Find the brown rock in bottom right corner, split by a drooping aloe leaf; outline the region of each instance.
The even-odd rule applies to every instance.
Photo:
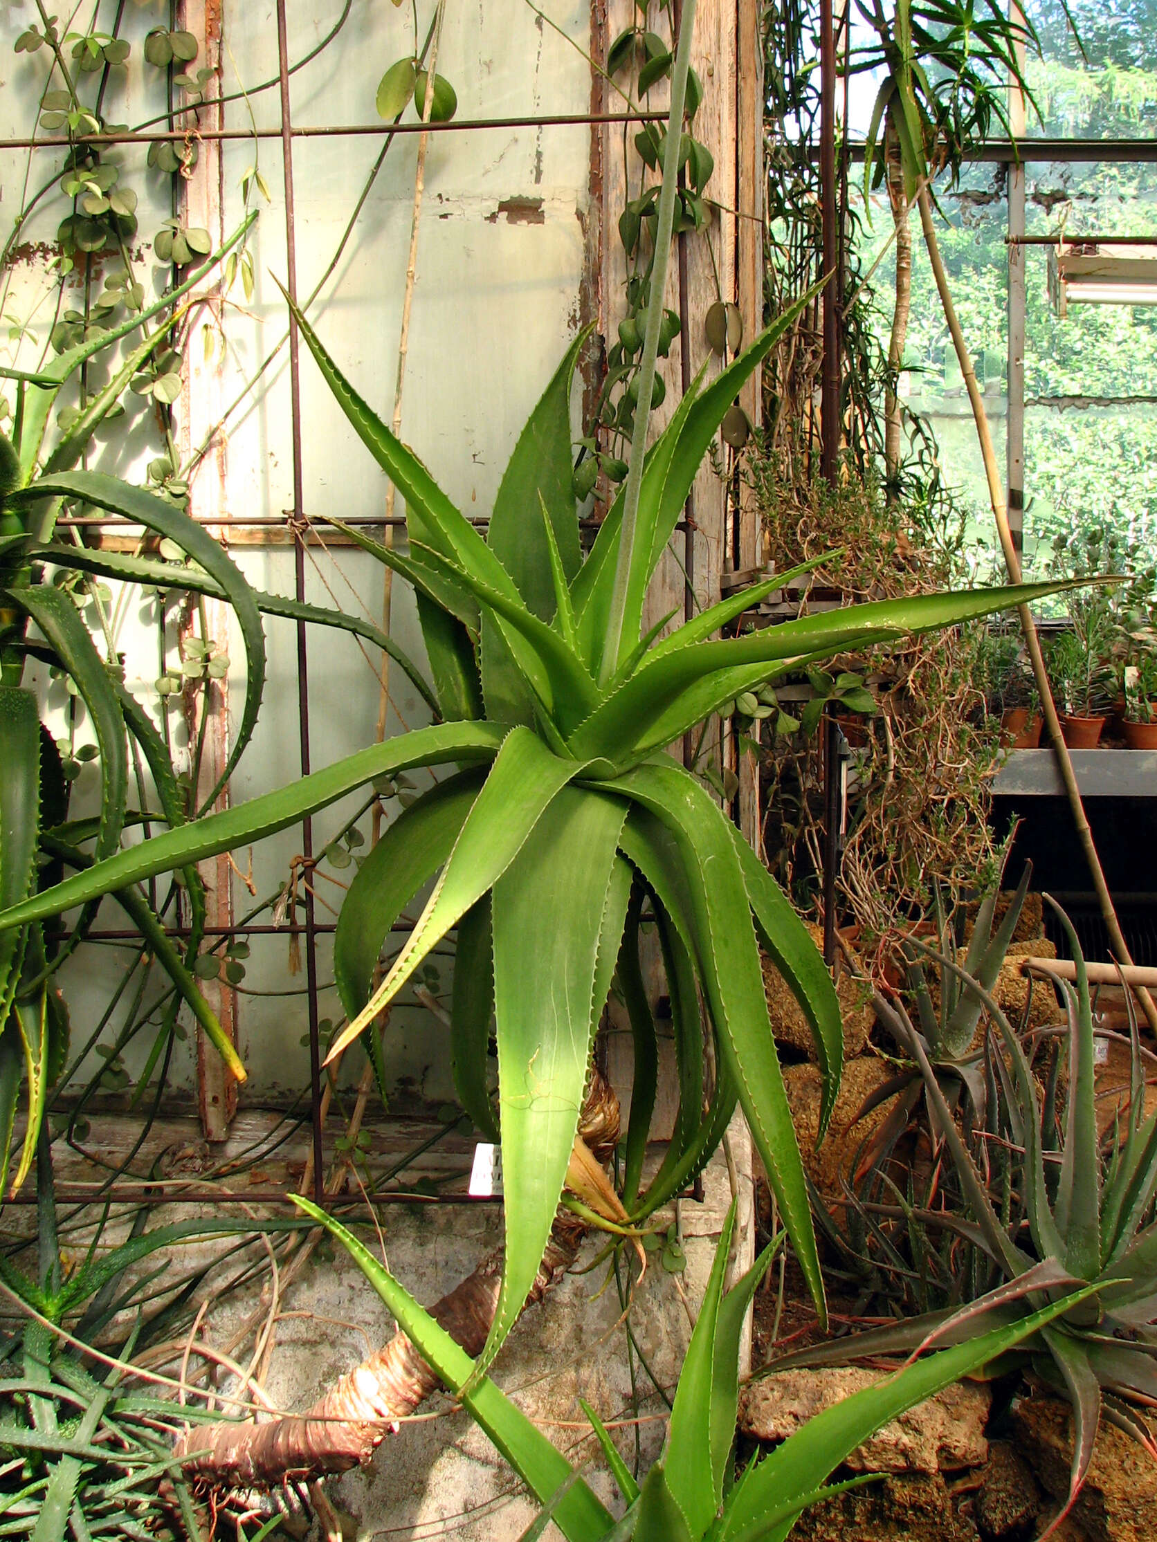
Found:
[[[1063,1502],[1072,1459],[1069,1405],[1055,1397],[1023,1397],[1012,1417],[1018,1453],[1044,1493]],[[1071,1519],[1091,1542],[1151,1542],[1157,1531],[1157,1462],[1105,1420]]]

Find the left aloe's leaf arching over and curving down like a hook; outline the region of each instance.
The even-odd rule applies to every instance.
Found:
[[[190,520],[184,510],[174,509],[164,498],[157,498],[156,493],[145,492],[143,487],[131,487],[117,476],[106,476],[103,472],[62,472],[40,476],[20,497],[39,498],[45,493],[56,498],[83,498],[99,509],[108,509],[134,524],[156,530],[157,535],[174,541],[184,552],[188,552],[224,589],[245,643],[245,705],[221,779],[205,799],[205,808],[211,808],[253,737],[261,695],[265,689],[265,634],[253,591],[233,558],[204,526]]]

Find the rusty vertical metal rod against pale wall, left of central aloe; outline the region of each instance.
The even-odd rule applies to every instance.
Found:
[[[285,174],[285,290],[298,302],[298,250],[293,217],[293,137],[288,83],[288,40],[285,28],[285,0],[278,0],[278,74],[281,85],[281,153]],[[298,601],[305,600],[305,541],[302,540],[304,492],[301,475],[301,361],[298,355],[298,324],[290,316],[290,430],[293,435],[293,578]],[[301,774],[310,774],[310,699],[309,657],[305,623],[298,621],[298,740],[301,745]],[[301,851],[305,873],[313,871],[313,820],[307,814],[301,822]],[[321,1130],[321,1029],[318,1022],[318,959],[316,925],[313,916],[313,891],[305,884],[305,988],[309,992],[310,1024],[310,1112],[313,1115],[313,1201],[326,1203],[326,1173],[322,1169]]]

